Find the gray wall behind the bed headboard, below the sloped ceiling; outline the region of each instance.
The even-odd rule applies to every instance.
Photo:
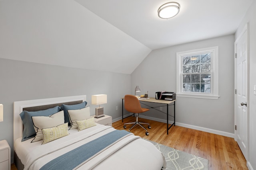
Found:
[[[91,96],[107,94],[108,103],[102,105],[104,113],[113,119],[120,119],[121,98],[129,93],[130,74],[0,59],[0,104],[4,105],[4,121],[0,122],[0,140],[6,139],[13,150],[15,101],[86,94],[91,115],[94,115],[97,106],[91,105]]]

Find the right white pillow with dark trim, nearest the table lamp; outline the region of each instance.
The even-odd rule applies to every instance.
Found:
[[[68,110],[68,116],[71,124],[70,129],[76,129],[76,121],[90,118],[90,106],[77,110]]]

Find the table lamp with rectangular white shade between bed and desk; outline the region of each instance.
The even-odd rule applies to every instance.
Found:
[[[98,108],[95,108],[95,117],[99,118],[104,116],[104,108],[100,107],[101,104],[107,103],[107,95],[106,94],[97,94],[92,95],[92,104],[99,105]]]

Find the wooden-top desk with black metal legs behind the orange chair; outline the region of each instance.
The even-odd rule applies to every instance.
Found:
[[[166,124],[167,124],[167,135],[168,135],[168,130],[174,125],[175,126],[175,101],[176,100],[156,100],[155,98],[151,98],[150,99],[139,99],[140,103],[148,106],[147,104],[150,104],[150,103],[158,103],[158,104],[164,104],[164,106],[166,106],[166,113],[161,111],[161,110],[158,110],[158,109],[155,109],[156,107],[163,107],[163,106],[155,106],[155,107],[151,107],[151,106],[148,106],[148,109],[152,108],[152,109],[155,109],[157,111],[160,111],[162,113],[165,113],[167,116],[166,116]],[[146,104],[147,103],[147,104]],[[169,115],[169,107],[168,106],[174,106],[174,116],[172,115]],[[169,116],[172,116],[174,118],[174,123],[172,123],[172,125],[169,127],[169,123],[168,123],[168,119],[169,119]],[[124,121],[126,117],[124,117],[124,98],[122,98],[122,122]]]

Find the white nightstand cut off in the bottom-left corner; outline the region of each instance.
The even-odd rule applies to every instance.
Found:
[[[0,167],[1,170],[11,169],[11,149],[6,140],[0,141]]]

